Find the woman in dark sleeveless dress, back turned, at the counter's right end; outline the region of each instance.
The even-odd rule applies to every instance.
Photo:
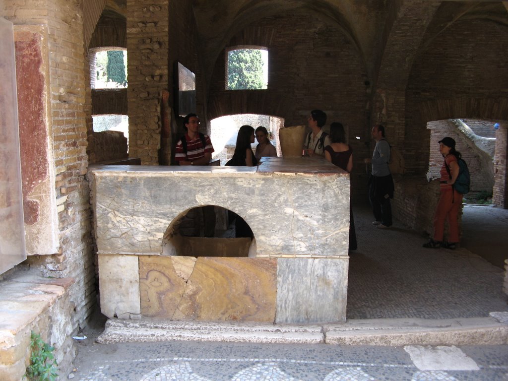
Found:
[[[325,147],[325,158],[330,163],[342,168],[347,173],[353,169],[353,149],[346,143],[346,134],[342,123],[333,122],[330,124],[330,145]],[[350,237],[349,249],[357,249],[355,220],[350,197]]]

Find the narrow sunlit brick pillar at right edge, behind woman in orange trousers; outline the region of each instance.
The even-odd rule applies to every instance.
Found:
[[[499,123],[496,131],[496,149],[494,152],[494,188],[492,202],[495,206],[508,208],[508,122]]]

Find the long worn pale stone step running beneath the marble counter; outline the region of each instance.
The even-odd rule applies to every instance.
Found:
[[[369,319],[343,324],[281,325],[230,322],[106,322],[99,343],[195,340],[342,345],[498,345],[508,343],[508,312],[464,319]]]

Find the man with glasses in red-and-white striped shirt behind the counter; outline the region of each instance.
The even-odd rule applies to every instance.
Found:
[[[187,133],[176,143],[175,160],[181,166],[207,166],[212,157],[213,146],[208,135],[199,132],[200,120],[196,114],[183,118]],[[215,207],[203,206],[204,236],[215,235]]]

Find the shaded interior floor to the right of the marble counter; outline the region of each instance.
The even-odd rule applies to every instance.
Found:
[[[504,239],[501,255],[498,233],[508,232],[508,210],[498,209],[492,218],[493,209],[466,207],[465,247],[448,250],[423,248],[427,237],[396,220],[392,229],[377,229],[368,207],[354,208],[358,250],[350,255],[347,319],[450,319],[508,311],[503,270],[481,257],[490,253],[499,262],[508,253]],[[471,232],[474,226],[488,228]]]

